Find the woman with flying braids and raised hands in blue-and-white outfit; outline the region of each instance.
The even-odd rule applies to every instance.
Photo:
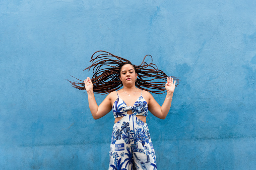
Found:
[[[98,53],[100,54],[91,60],[92,66],[88,67],[89,69],[96,68],[96,73],[92,80],[89,77],[84,80],[84,88],[88,94],[89,107],[94,119],[99,119],[111,109],[113,110],[115,124],[111,137],[109,169],[156,169],[155,151],[146,117],[150,111],[156,117],[165,119],[171,107],[176,80],[173,81],[173,78],[155,69],[154,64],[147,64],[144,60],[143,65],[135,66],[128,60],[104,51],[98,51],[93,56]],[[117,60],[111,60],[108,57],[115,57]],[[98,61],[95,62],[96,59]],[[116,66],[109,64],[116,64]],[[102,66],[109,68],[101,69]],[[148,67],[153,67],[153,69]],[[117,69],[118,77],[114,76]],[[153,93],[163,91],[163,85],[159,82],[148,82],[149,80],[143,80],[143,77],[153,77],[151,80],[163,79],[163,77],[167,79],[164,86],[167,94],[162,106],[148,91]],[[110,80],[106,81],[107,78]],[[93,82],[97,85],[96,89],[94,89]],[[81,83],[71,83],[74,87],[83,89]],[[143,85],[143,83],[149,85]],[[117,90],[119,86],[122,86],[122,89]],[[155,90],[146,90],[144,87]],[[98,106],[94,92],[109,92],[109,94]]]

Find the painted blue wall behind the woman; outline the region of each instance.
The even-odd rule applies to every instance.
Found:
[[[256,1],[0,1],[1,169],[107,169],[113,115],[94,120],[97,50],[180,77],[147,122],[159,169],[256,168]],[[98,103],[104,95],[96,95]],[[154,95],[159,104],[165,94]]]

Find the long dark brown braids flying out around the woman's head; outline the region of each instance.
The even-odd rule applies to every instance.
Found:
[[[146,57],[151,57],[150,64],[147,64],[144,61]],[[152,63],[153,58],[151,55],[146,55],[141,65],[136,66],[133,65],[129,60],[115,56],[106,51],[97,51],[92,55],[90,62],[92,65],[84,69],[84,71],[87,69],[90,70],[91,68],[93,69],[93,76],[91,81],[93,83],[93,92],[95,93],[107,94],[119,89],[122,86],[121,80],[119,78],[120,71],[121,67],[125,64],[131,64],[135,69],[135,73],[138,74],[135,84],[136,87],[156,94],[162,94],[166,92],[165,82],[167,75]],[[179,83],[179,79],[177,79],[177,77],[172,78],[176,80],[176,87]],[[162,79],[164,81],[156,82],[156,79]],[[81,82],[69,82],[73,87],[79,90],[85,90],[84,81],[79,81]]]

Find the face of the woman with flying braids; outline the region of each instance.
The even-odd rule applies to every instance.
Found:
[[[123,85],[135,84],[137,73],[135,73],[134,67],[131,64],[125,64],[121,68],[119,78]]]

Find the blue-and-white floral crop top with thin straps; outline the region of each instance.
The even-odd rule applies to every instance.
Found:
[[[117,93],[117,96],[118,96],[118,93]],[[135,115],[147,116],[148,103],[142,97],[142,91],[141,91],[141,96],[136,100],[133,106],[127,106],[126,103],[118,96],[118,98],[115,100],[112,106],[112,110],[113,110],[114,118],[125,116],[127,114],[127,111],[129,110],[132,110],[133,114]]]

